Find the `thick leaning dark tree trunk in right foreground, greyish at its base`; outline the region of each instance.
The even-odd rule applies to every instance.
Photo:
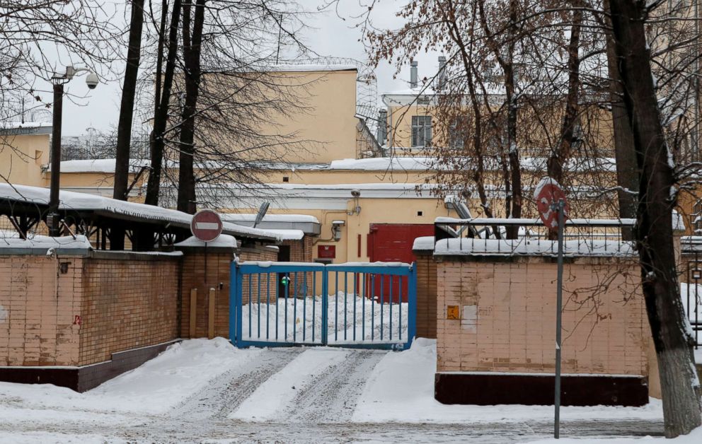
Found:
[[[665,435],[702,424],[692,338],[680,298],[672,235],[672,160],[665,142],[646,42],[646,1],[610,0],[623,98],[640,169],[635,238],[643,295],[655,344]]]

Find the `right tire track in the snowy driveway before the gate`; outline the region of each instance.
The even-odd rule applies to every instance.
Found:
[[[353,350],[298,392],[287,412],[290,421],[349,422],[373,368],[387,351]]]

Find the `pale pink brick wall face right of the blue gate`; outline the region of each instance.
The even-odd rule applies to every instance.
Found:
[[[437,278],[439,372],[553,372],[555,262],[444,257]],[[648,375],[638,279],[636,264],[623,259],[565,264],[563,373]],[[459,319],[447,319],[449,306]]]

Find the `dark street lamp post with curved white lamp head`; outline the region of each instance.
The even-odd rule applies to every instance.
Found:
[[[86,72],[86,84],[88,88],[95,89],[98,86],[98,75],[87,68],[76,68],[66,66],[66,71],[62,74],[56,73],[52,76],[51,82],[54,84],[54,117],[52,123],[51,140],[51,183],[49,192],[49,214],[47,214],[46,224],[49,227],[50,236],[61,235],[59,227],[59,178],[61,177],[61,120],[63,110],[64,85],[69,83],[76,74]]]

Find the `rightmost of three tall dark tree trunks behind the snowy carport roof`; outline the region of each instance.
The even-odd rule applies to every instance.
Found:
[[[180,124],[180,155],[178,163],[178,210],[195,214],[195,113],[200,91],[200,45],[205,23],[205,0],[197,0],[190,35],[190,4],[183,5],[183,57],[185,62],[185,105]]]

